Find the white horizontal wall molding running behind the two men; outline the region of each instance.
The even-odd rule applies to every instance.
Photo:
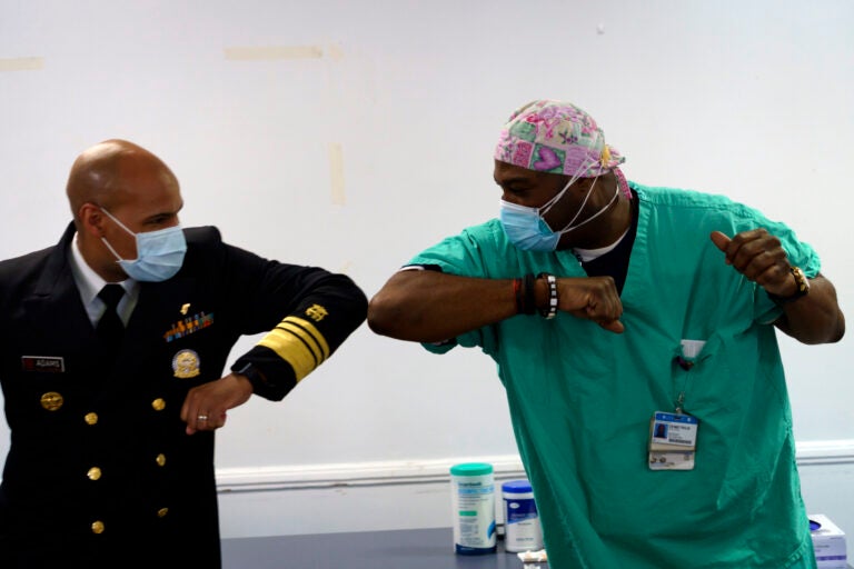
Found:
[[[496,480],[526,476],[518,455],[500,455],[434,460],[222,468],[217,470],[217,487],[219,492],[260,492],[445,483],[448,480],[448,469],[458,462],[488,462],[495,469]],[[798,467],[852,463],[854,439],[797,443]]]

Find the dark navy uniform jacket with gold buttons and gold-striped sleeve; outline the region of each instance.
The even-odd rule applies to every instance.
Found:
[[[252,363],[256,395],[281,399],[365,320],[346,276],[185,233],[183,267],[141,283],[115,363],[71,273],[73,226],[0,262],[0,567],[219,567],[214,433],[185,433],[187,391],[222,376],[241,335],[271,330],[232,369]]]

